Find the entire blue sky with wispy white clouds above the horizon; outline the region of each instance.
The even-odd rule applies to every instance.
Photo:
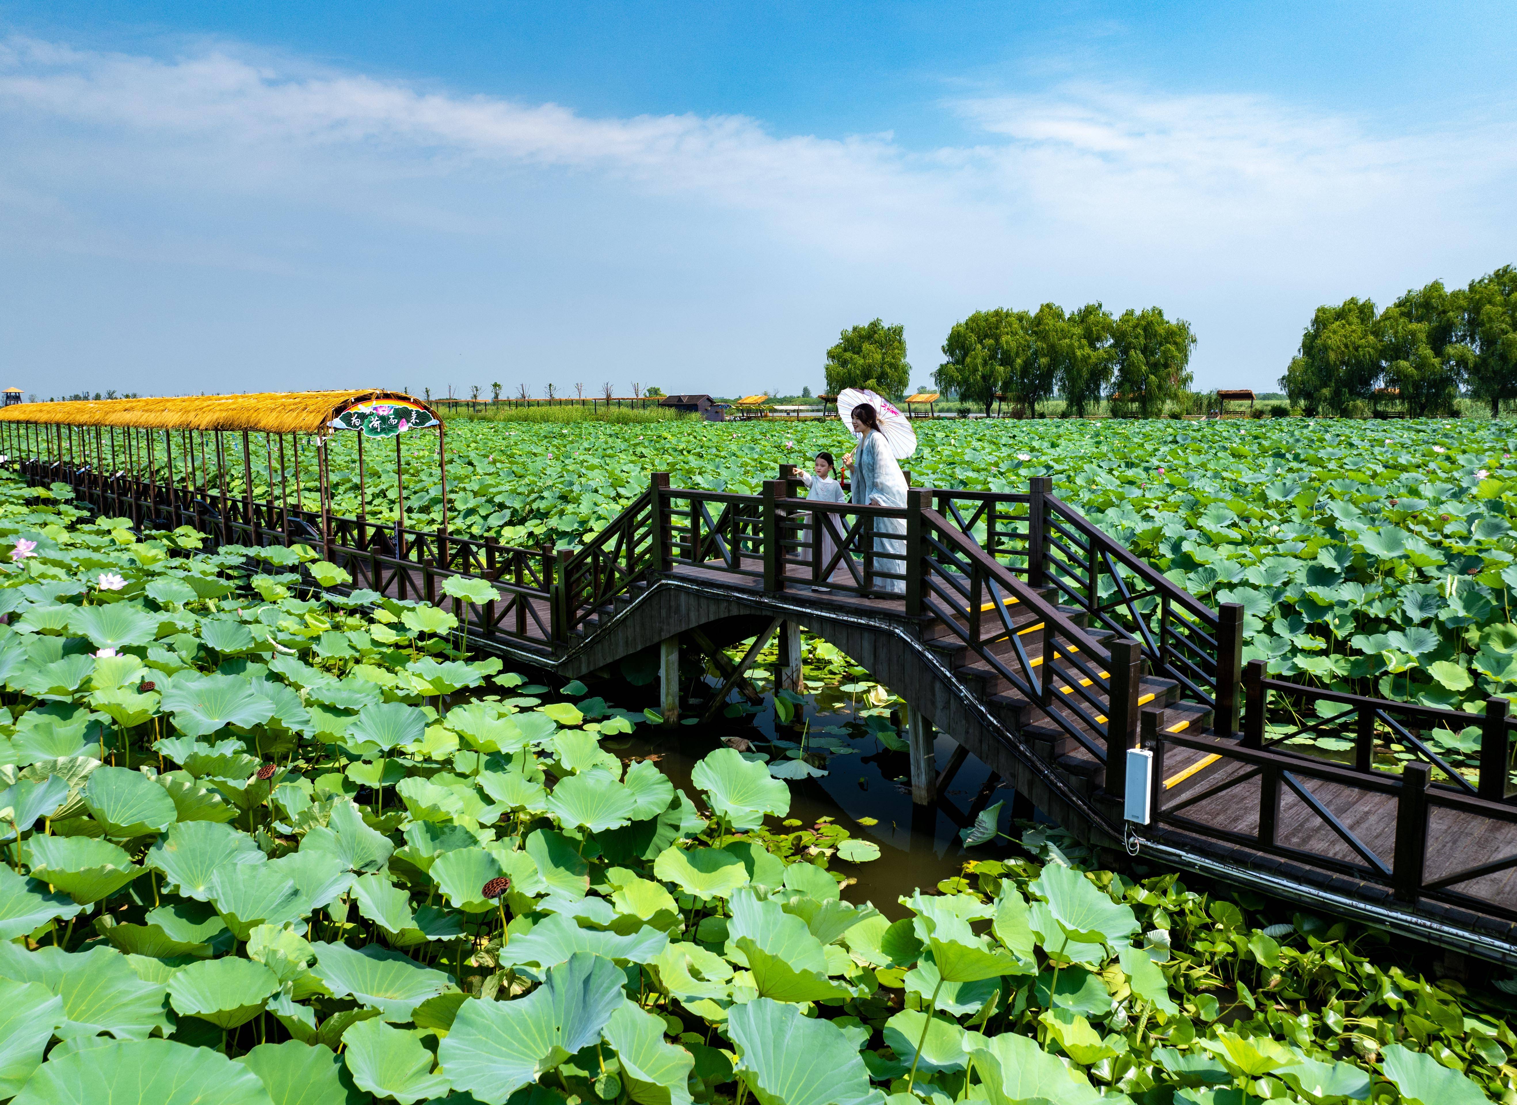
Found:
[[[0,0],[0,357],[42,395],[819,389],[906,325],[1317,304],[1514,249],[1511,5]]]

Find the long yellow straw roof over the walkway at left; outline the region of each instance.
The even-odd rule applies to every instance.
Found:
[[[419,399],[404,392],[253,392],[247,395],[187,395],[167,399],[21,402],[0,407],[0,422],[326,434],[329,433],[326,423],[332,417],[350,404],[366,399],[407,399],[425,407]]]

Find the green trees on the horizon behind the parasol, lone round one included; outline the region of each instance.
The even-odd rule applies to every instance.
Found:
[[[994,308],[957,322],[944,342],[938,387],[986,413],[1004,396],[1036,410],[1062,398],[1065,411],[1086,414],[1109,402],[1115,414],[1150,417],[1191,386],[1195,334],[1157,307],[1112,316],[1101,304],[1065,311]],[[827,351],[827,390],[869,387],[901,396],[910,384],[904,326],[883,320],[845,329]]]

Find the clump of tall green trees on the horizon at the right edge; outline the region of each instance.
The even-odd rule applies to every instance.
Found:
[[[1434,281],[1384,311],[1370,299],[1318,307],[1280,387],[1308,414],[1359,413],[1384,398],[1434,417],[1462,393],[1496,417],[1517,399],[1517,269],[1452,291]]]

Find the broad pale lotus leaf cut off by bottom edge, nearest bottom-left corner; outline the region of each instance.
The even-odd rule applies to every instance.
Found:
[[[49,1059],[17,1105],[273,1105],[264,1084],[209,1047],[173,1040],[108,1043]]]

